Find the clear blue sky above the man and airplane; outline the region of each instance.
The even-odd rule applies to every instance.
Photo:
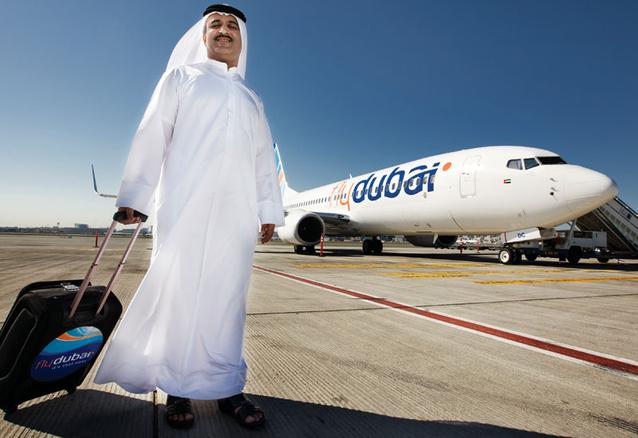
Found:
[[[297,190],[473,146],[538,146],[638,207],[638,2],[243,0],[248,82]],[[130,141],[202,1],[8,0],[0,226],[109,223]]]

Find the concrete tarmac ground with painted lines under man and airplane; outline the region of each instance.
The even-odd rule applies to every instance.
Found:
[[[126,239],[106,251],[105,284]],[[126,306],[150,259],[140,239],[114,290]],[[82,278],[94,239],[0,235],[0,321],[26,284]],[[638,264],[329,243],[259,245],[248,303],[247,431],[214,401],[170,429],[165,394],[93,383],[25,402],[1,437],[638,436]],[[100,359],[98,359],[99,361]]]

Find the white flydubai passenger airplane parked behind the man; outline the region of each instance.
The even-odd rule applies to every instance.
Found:
[[[288,186],[275,157],[285,209],[279,238],[312,253],[321,236],[361,236],[380,254],[382,235],[449,247],[459,235],[551,228],[618,193],[606,175],[523,146],[465,149],[387,167],[303,192]]]

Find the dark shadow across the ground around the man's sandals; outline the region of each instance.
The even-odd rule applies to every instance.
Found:
[[[164,420],[165,406],[119,394],[78,390],[14,412],[5,421],[61,437],[541,437],[490,424],[421,421],[352,409],[252,395],[268,421],[258,431],[240,427],[221,414],[214,401],[194,401],[195,426],[174,430]]]

